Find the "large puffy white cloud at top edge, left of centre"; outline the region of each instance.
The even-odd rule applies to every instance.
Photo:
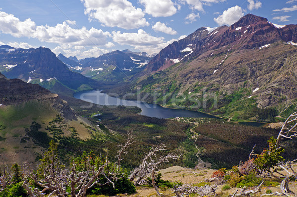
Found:
[[[81,0],[85,14],[108,27],[134,29],[148,26],[145,13],[127,0]]]

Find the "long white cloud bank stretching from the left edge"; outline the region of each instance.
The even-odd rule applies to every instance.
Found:
[[[37,26],[30,18],[20,21],[12,14],[0,12],[0,31],[14,37],[37,38],[42,42],[63,45],[103,46],[108,44],[106,39],[111,37],[109,32],[103,32],[93,27],[90,30],[85,27],[74,29],[68,25],[69,23],[75,24],[75,21],[63,22],[54,27]]]

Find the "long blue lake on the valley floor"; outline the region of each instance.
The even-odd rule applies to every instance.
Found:
[[[171,109],[162,107],[157,104],[148,104],[136,100],[122,100],[116,97],[111,97],[100,90],[93,90],[87,92],[79,92],[74,94],[76,99],[81,99],[87,102],[105,105],[112,108],[116,106],[139,107],[141,109],[140,115],[155,117],[155,118],[175,118],[175,117],[191,117],[191,118],[218,118],[206,113],[198,111],[190,111],[186,109]]]

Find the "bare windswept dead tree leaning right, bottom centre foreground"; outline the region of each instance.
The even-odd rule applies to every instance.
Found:
[[[178,159],[180,155],[169,154],[167,156],[161,156],[157,158],[156,153],[159,151],[165,151],[168,148],[164,144],[154,145],[148,154],[144,157],[139,167],[135,168],[129,176],[130,181],[134,181],[135,185],[145,183],[148,176],[151,175],[151,182],[156,190],[157,194],[161,196],[159,189],[155,183],[155,174],[157,167],[164,162],[169,162],[170,159]],[[135,180],[136,179],[136,180]]]

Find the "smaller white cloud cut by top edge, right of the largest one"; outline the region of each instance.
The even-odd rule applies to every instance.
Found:
[[[176,13],[171,0],[139,0],[145,6],[145,12],[153,17],[172,16]]]

